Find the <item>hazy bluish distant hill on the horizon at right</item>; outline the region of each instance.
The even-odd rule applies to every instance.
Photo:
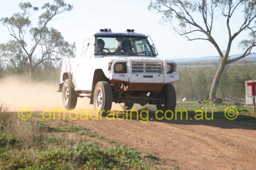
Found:
[[[230,55],[229,58],[237,58],[241,56],[242,54],[235,54]],[[187,62],[218,62],[219,56],[205,56],[200,58],[180,58],[180,59],[173,59],[177,63],[187,63]],[[244,59],[241,60],[256,60],[256,54],[251,54],[246,56]]]

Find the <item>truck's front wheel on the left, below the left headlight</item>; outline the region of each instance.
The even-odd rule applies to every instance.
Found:
[[[98,82],[93,94],[94,109],[98,108],[98,115],[102,111],[102,116],[106,116],[107,111],[112,107],[112,89],[108,82]],[[104,110],[104,111],[103,111]]]

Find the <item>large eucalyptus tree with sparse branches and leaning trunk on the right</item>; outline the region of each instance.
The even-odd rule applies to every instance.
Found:
[[[217,87],[227,64],[236,62],[252,54],[256,46],[256,1],[255,0],[151,0],[148,8],[162,13],[163,23],[171,24],[174,32],[187,40],[205,40],[212,44],[218,52],[220,62],[211,84],[209,99],[216,98]],[[235,15],[241,15],[242,21]],[[218,25],[216,19],[223,20],[224,25]],[[231,28],[233,23],[239,27]],[[227,30],[227,44],[221,47],[217,43],[217,29]],[[242,40],[238,47],[243,54],[229,59],[232,43],[241,33],[248,33],[248,38]],[[225,38],[225,37],[223,37]]]

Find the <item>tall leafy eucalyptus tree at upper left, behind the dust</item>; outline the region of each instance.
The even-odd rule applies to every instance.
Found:
[[[14,13],[11,17],[1,18],[1,23],[7,27],[10,35],[25,53],[29,62],[29,75],[33,79],[34,69],[45,60],[58,62],[67,56],[74,55],[75,44],[68,43],[59,31],[48,28],[50,21],[57,19],[62,13],[71,11],[73,6],[63,0],[54,0],[41,7],[37,25],[34,26],[31,18],[39,11],[30,2],[19,3],[22,12]]]

